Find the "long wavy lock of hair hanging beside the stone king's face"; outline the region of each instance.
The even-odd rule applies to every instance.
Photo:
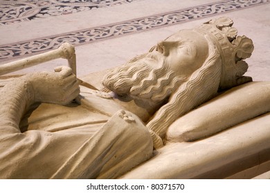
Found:
[[[215,43],[204,34],[208,41],[208,58],[181,84],[170,96],[168,103],[163,105],[147,123],[152,135],[154,148],[163,146],[162,139],[168,127],[180,116],[217,94],[222,72],[222,61]]]

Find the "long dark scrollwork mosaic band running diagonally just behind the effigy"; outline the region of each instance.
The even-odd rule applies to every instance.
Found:
[[[156,28],[183,23],[194,19],[201,19],[203,17],[210,17],[215,14],[251,8],[253,6],[269,2],[270,0],[219,1],[217,3],[209,3],[194,8],[166,12],[163,14],[132,19],[130,21],[123,21],[106,26],[33,39],[30,41],[21,41],[19,43],[9,45],[0,45],[0,61],[46,52],[48,50],[58,48],[64,42],[69,42],[75,46],[85,43],[93,43],[104,39],[120,37],[125,34],[133,34],[136,32],[143,32],[146,30],[153,30]]]

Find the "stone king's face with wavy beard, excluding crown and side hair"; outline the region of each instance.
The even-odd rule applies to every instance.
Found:
[[[192,30],[181,30],[107,74],[103,84],[120,95],[162,101],[188,81],[208,58],[208,41]]]

